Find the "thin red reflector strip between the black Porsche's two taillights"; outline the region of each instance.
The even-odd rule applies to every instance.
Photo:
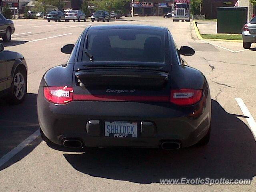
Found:
[[[169,102],[169,96],[109,96],[73,95],[73,100],[83,101],[130,101],[130,102]]]

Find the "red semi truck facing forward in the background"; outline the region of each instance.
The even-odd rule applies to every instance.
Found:
[[[173,21],[190,21],[190,0],[174,0]]]

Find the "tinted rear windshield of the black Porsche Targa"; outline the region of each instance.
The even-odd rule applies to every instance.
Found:
[[[164,62],[163,31],[89,30],[85,49],[95,61]],[[89,58],[83,54],[83,61]]]

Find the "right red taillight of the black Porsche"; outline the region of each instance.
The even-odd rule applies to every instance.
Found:
[[[171,90],[170,102],[180,105],[193,105],[200,101],[203,91],[198,89]]]

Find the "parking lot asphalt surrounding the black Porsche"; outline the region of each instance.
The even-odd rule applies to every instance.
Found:
[[[54,150],[38,136],[36,97],[43,74],[64,64],[60,48],[75,43],[89,25],[144,24],[167,27],[178,47],[191,46],[188,65],[207,78],[212,98],[212,135],[207,146],[176,151],[98,149]],[[192,22],[136,17],[111,22],[15,20],[6,50],[28,64],[28,96],[23,104],[0,102],[0,191],[255,191],[256,44],[198,40]],[[2,41],[0,41],[2,42]],[[33,135],[34,134],[34,135]],[[31,136],[32,135],[32,136]],[[29,139],[27,139],[29,138]],[[32,142],[30,142],[32,141]],[[1,164],[2,162],[2,164]],[[182,177],[248,179],[250,185],[162,185]]]

